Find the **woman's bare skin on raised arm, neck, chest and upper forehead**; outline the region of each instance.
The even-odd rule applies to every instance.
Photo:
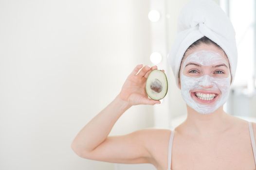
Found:
[[[214,45],[201,44],[185,57],[199,50],[223,52]],[[78,156],[112,163],[150,163],[157,170],[167,169],[171,130],[143,129],[109,136],[118,118],[133,105],[160,103],[148,99],[145,91],[148,74],[157,67],[142,67],[134,68],[116,98],[75,136],[71,148]],[[256,136],[256,123],[253,129]],[[172,170],[256,169],[247,121],[225,113],[223,106],[202,115],[187,105],[187,119],[174,131]]]

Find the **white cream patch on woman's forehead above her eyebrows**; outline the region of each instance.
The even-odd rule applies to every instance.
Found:
[[[224,63],[228,66],[228,62],[218,53],[214,51],[197,51],[190,54],[184,61],[183,68],[187,63],[198,63],[203,66],[210,66]]]

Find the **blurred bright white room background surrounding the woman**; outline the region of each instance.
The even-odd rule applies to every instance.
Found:
[[[188,0],[0,0],[0,170],[155,170],[78,157],[77,133],[138,64],[168,77],[160,105],[131,107],[111,135],[186,118],[167,53]],[[225,110],[256,121],[256,4],[215,0],[230,17],[238,69]]]

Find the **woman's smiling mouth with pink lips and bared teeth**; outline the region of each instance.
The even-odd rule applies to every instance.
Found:
[[[193,100],[201,104],[213,104],[219,98],[218,91],[197,90],[197,91],[191,91],[190,94]]]

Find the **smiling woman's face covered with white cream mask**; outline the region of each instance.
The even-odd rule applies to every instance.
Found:
[[[180,68],[184,101],[197,112],[212,113],[223,105],[230,89],[231,74],[224,51],[201,44],[186,52]]]

